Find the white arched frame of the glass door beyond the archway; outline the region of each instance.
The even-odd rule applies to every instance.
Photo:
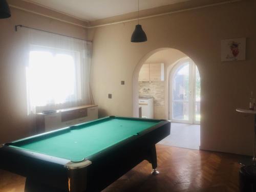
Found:
[[[191,95],[189,99],[192,100],[192,102],[188,101],[188,117],[189,118],[188,120],[173,119],[173,78],[178,68],[187,61],[189,62],[189,90],[190,90],[189,95]],[[169,72],[168,84],[169,84],[168,86],[169,91],[167,94],[168,95],[168,119],[178,123],[200,124],[200,121],[196,121],[196,114],[195,114],[195,109],[196,109],[196,94],[195,94],[196,93],[196,64],[195,62],[189,57],[180,59],[172,68],[172,70]]]

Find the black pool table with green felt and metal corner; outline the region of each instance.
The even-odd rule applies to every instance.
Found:
[[[6,143],[0,168],[25,176],[25,191],[100,191],[148,160],[170,122],[109,116]]]

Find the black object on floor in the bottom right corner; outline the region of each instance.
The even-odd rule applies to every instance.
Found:
[[[241,167],[239,172],[239,180],[241,192],[255,192],[256,166],[249,165]]]

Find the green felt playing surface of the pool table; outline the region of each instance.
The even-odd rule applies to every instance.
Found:
[[[59,135],[49,134],[39,140],[17,141],[13,146],[50,156],[79,161],[104,150],[126,138],[148,129],[159,121],[107,118],[80,129],[73,129]]]

